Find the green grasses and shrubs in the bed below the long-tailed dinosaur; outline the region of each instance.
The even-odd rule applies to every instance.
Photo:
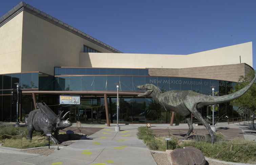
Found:
[[[138,128],[137,136],[152,150],[167,149],[164,138],[155,138],[152,130],[146,127]],[[195,136],[194,141],[187,141],[178,145],[176,138],[169,141],[169,149],[193,146],[202,151],[206,157],[228,162],[256,163],[256,143],[237,139],[232,141],[223,140],[223,135],[216,134],[216,142],[211,144],[210,136]],[[159,139],[159,140],[158,140]]]

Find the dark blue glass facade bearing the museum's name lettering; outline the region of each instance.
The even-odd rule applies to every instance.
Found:
[[[0,121],[16,120],[16,104],[12,104],[12,88],[19,83],[23,90],[57,90],[57,91],[116,91],[116,83],[120,83],[120,91],[138,92],[137,85],[154,84],[162,92],[169,90],[193,90],[198,93],[211,95],[211,87],[215,88],[215,95],[225,95],[235,85],[234,82],[148,76],[148,69],[121,69],[121,68],[68,68],[55,67],[55,75],[35,73],[19,73],[0,75]],[[105,103],[103,96],[81,96],[81,105],[58,105],[59,95],[36,95],[39,102],[52,105],[58,113],[60,110],[71,111],[69,118],[72,121],[88,123],[106,122]],[[53,106],[54,105],[54,106]],[[116,122],[116,98],[108,97],[109,117]],[[239,116],[229,103],[216,105],[216,119],[221,116],[229,118]],[[30,94],[22,96],[19,116],[21,121],[26,114],[34,109]],[[208,121],[211,121],[211,107],[204,107],[199,112]],[[166,111],[151,98],[122,97],[120,98],[121,123],[168,123],[171,112]],[[196,122],[196,118],[193,118]],[[219,121],[226,121],[222,117]],[[185,122],[185,119],[175,115],[174,122]]]

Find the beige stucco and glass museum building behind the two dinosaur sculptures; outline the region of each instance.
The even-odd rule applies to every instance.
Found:
[[[16,121],[12,89],[19,83],[19,120],[45,102],[70,111],[72,122],[116,122],[119,84],[121,123],[169,123],[171,112],[151,98],[139,98],[137,85],[162,92],[193,90],[226,95],[240,76],[253,70],[252,42],[188,55],[123,53],[102,41],[21,2],[0,18],[0,121]],[[79,96],[79,105],[60,103],[61,95]],[[215,117],[238,117],[229,103],[215,106]],[[200,113],[209,121],[210,107]],[[226,117],[227,116],[227,117]],[[196,119],[195,119],[196,120]],[[174,122],[185,122],[175,115]]]

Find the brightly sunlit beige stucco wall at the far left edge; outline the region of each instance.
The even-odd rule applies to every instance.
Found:
[[[0,27],[0,74],[21,72],[23,12]]]

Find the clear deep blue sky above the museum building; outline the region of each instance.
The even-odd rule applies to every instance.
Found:
[[[0,15],[19,2],[1,0]],[[124,53],[190,54],[251,41],[255,52],[255,0],[24,2]]]

